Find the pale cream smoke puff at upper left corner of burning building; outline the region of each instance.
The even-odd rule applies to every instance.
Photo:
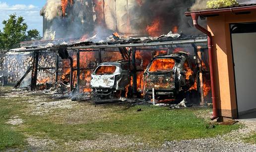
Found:
[[[47,0],[46,5],[41,10],[47,20],[53,20],[56,16],[62,15],[61,0]]]

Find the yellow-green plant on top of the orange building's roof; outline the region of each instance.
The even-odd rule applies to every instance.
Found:
[[[234,5],[238,5],[237,0],[209,0],[207,1],[207,8],[221,8],[221,7],[231,7]]]

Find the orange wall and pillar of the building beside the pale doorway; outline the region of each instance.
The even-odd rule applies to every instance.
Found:
[[[237,103],[230,23],[256,22],[256,11],[250,14],[226,13],[207,18],[207,28],[213,36],[213,67],[215,92],[220,116],[237,118]]]

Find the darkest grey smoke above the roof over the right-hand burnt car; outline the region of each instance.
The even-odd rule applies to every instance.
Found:
[[[170,32],[174,26],[178,26],[179,32],[186,35],[198,34],[192,26],[191,18],[184,14],[193,3],[194,0],[144,0],[142,14],[146,16],[147,25],[159,17],[162,34]]]

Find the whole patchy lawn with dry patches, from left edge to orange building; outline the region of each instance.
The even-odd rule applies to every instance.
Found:
[[[39,96],[39,95],[37,95]],[[54,109],[41,115],[28,100],[33,96],[0,97],[0,150],[26,150],[26,138],[49,138],[65,146],[70,141],[97,140],[105,134],[132,136],[134,142],[157,147],[165,141],[214,137],[236,130],[240,125],[207,128],[210,120],[197,116],[207,108],[170,109],[149,105],[97,105],[74,102],[72,108]],[[45,95],[39,99],[46,99]],[[50,101],[54,101],[49,99]],[[137,111],[137,109],[142,111]],[[23,120],[20,125],[6,122],[13,116]]]

